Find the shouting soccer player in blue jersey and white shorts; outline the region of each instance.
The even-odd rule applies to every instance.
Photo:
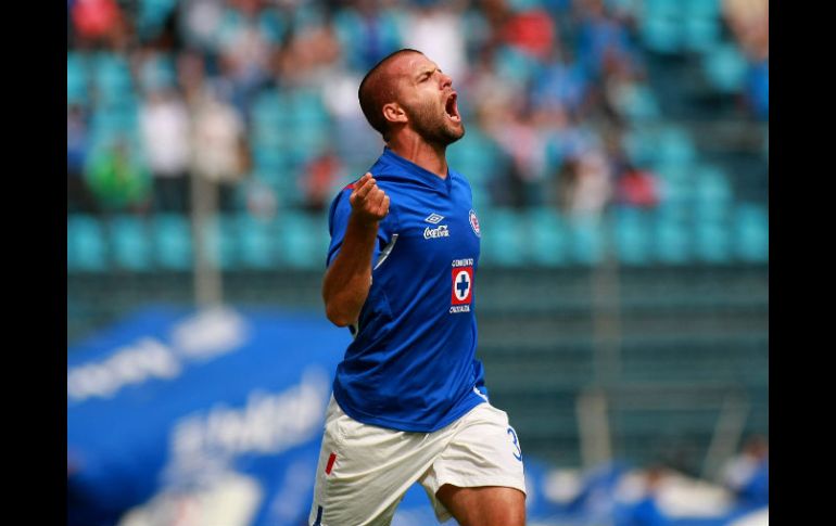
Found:
[[[360,82],[385,147],[330,208],[322,297],[354,339],[327,410],[312,525],[388,525],[416,482],[440,522],[525,523],[519,439],[474,357],[481,232],[470,185],[445,157],[465,134],[456,99],[409,49]]]

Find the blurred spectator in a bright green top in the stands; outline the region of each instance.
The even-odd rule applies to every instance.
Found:
[[[151,179],[136,149],[116,136],[88,156],[85,177],[105,213],[144,213],[150,205]]]

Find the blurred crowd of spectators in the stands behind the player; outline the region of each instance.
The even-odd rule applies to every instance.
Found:
[[[468,132],[495,156],[480,174],[490,204],[570,215],[612,202],[654,206],[656,178],[622,140],[625,105],[646,81],[626,3],[67,0],[68,61],[102,67],[97,57],[114,56],[130,77],[113,98],[67,99],[68,208],[183,213],[197,175],[217,183],[221,210],[322,210],[380,153],[356,87],[400,48],[423,51],[463,93]],[[735,34],[760,50],[761,35],[734,14],[739,3],[727,2]],[[259,97],[294,90],[317,93],[328,126],[321,147],[267,178],[293,181],[282,187],[288,200],[259,176],[253,129]],[[122,127],[97,129],[123,114]]]

